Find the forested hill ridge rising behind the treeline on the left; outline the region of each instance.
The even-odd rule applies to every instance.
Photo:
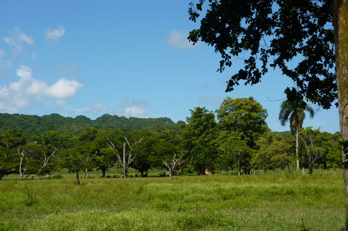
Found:
[[[166,117],[161,118],[134,118],[118,117],[117,115],[104,114],[95,120],[85,116],[76,118],[63,117],[60,114],[49,114],[42,117],[26,114],[0,113],[0,132],[12,128],[21,128],[27,135],[42,135],[47,130],[56,130],[70,135],[79,134],[84,126],[91,126],[98,130],[122,128],[125,130],[149,130],[161,132],[163,130],[179,130],[183,121],[174,123]]]

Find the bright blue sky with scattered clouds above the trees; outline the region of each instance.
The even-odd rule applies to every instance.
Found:
[[[177,122],[198,106],[215,111],[227,96],[253,96],[271,130],[289,130],[278,114],[291,80],[269,69],[258,85],[226,93],[241,57],[219,73],[219,54],[188,42],[199,26],[189,21],[190,2],[0,1],[0,112]],[[317,108],[303,126],[337,132],[338,109]]]

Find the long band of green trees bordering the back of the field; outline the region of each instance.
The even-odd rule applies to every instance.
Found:
[[[89,171],[97,168],[106,176],[115,164],[122,167],[124,177],[129,167],[140,176],[147,176],[150,169],[166,169],[170,176],[290,171],[295,166],[295,139],[289,132],[271,132],[266,118],[267,110],[252,97],[228,97],[215,112],[199,107],[191,110],[180,130],[97,129],[87,123],[77,135],[57,130],[29,135],[13,128],[0,135],[0,179],[12,173],[19,173],[21,179],[26,174],[39,178],[66,168],[77,174],[79,182],[79,172],[88,178]],[[301,167],[310,174],[313,168],[340,167],[339,138],[338,133],[301,129]]]

